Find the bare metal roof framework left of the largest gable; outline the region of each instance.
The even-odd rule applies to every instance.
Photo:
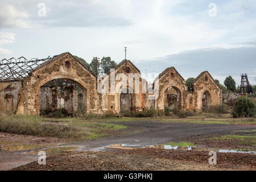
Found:
[[[18,80],[27,77],[33,69],[50,59],[52,59],[51,56],[44,59],[32,58],[30,60],[23,56],[18,59],[14,57],[9,60],[3,59],[0,61],[0,81]]]

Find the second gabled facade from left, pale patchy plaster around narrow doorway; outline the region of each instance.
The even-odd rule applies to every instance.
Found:
[[[129,72],[126,72],[127,68],[129,67]],[[139,80],[133,81],[133,85],[129,85],[129,73],[135,75],[138,74]],[[125,77],[117,77],[118,74],[123,74]],[[146,80],[142,81],[141,73],[138,71],[137,68],[134,67],[133,64],[130,63],[130,61],[127,61],[126,64],[123,63],[122,65],[118,66],[115,69],[114,74],[114,92],[111,92],[111,76],[110,73],[108,77],[101,80],[101,82],[108,83],[108,93],[102,93],[102,112],[109,112],[112,111],[115,114],[118,114],[121,111],[121,105],[131,105],[131,110],[142,110],[142,109],[149,109],[149,101],[148,101],[148,93],[147,93],[147,82]],[[138,84],[135,86],[135,82]],[[126,88],[123,88],[124,83],[126,83]],[[142,93],[142,89],[144,86],[144,90],[146,92]],[[138,92],[135,91],[135,87],[138,88]],[[123,90],[127,90],[126,92],[130,94],[127,94],[127,96],[123,95],[121,96],[121,93]],[[122,103],[121,103],[122,102]],[[130,107],[130,106],[127,106]]]

